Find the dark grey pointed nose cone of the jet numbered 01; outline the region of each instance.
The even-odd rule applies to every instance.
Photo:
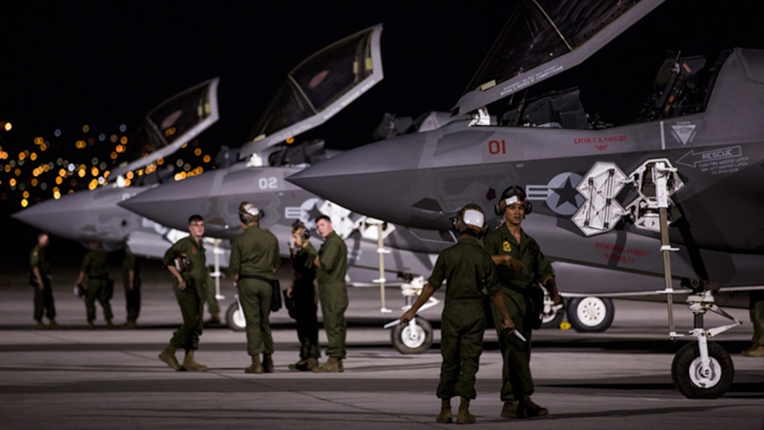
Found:
[[[404,135],[335,155],[286,178],[342,207],[407,226],[432,228],[442,215],[430,166],[420,165],[427,133]]]

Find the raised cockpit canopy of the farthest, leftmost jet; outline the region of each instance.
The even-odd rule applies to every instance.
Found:
[[[135,151],[132,160],[112,169],[109,178],[117,178],[167,157],[214,124],[218,118],[219,78],[193,86],[155,107],[129,145]]]

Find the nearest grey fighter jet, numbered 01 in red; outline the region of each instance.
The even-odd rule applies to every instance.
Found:
[[[577,88],[536,90],[660,3],[518,2],[451,122],[353,149],[287,181],[429,230],[447,230],[468,203],[493,211],[503,189],[522,184],[533,202],[523,229],[554,260],[562,292],[578,296],[568,302],[571,322],[601,322],[607,302],[594,299],[659,292],[669,335],[681,337],[672,295],[688,292],[688,335],[698,341],[679,350],[672,378],[685,396],[721,396],[733,363],[707,337],[740,321],[715,292],[760,289],[764,279],[764,50],[667,58],[630,123],[597,120]],[[704,328],[707,311],[730,324]]]

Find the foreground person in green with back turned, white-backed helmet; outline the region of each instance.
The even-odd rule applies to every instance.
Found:
[[[400,318],[400,324],[408,324],[413,320],[416,311],[445,281],[441,326],[443,361],[436,391],[441,399],[441,409],[435,421],[452,422],[451,398],[460,396],[456,421],[459,424],[472,424],[475,417],[469,412],[469,406],[470,400],[477,396],[475,375],[478,373],[483,352],[483,334],[487,325],[483,308],[484,289],[501,315],[498,327],[501,327],[503,333],[511,334],[515,326],[504,305],[494,262],[478,243],[478,238],[485,231],[483,210],[477,205],[468,204],[453,221],[454,230],[459,234],[458,243],[440,253],[422,293]]]

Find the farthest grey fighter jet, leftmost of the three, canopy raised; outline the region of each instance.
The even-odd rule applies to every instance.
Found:
[[[157,166],[157,161],[219,119],[218,84],[218,78],[200,83],[152,109],[135,138],[128,142],[125,158],[130,162],[112,168],[105,186],[45,200],[12,216],[66,239],[99,242],[109,250],[127,244],[138,255],[161,258],[167,249],[167,240],[162,236],[169,229],[117,203],[167,180],[167,172]]]

